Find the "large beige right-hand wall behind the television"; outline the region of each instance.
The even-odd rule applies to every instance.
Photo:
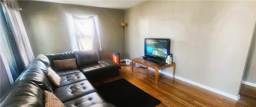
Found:
[[[255,1],[146,1],[125,10],[128,58],[144,38],[170,38],[176,76],[238,95],[254,24]],[[172,74],[168,68],[166,72]]]

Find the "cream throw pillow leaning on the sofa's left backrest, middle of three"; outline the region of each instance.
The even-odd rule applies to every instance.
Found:
[[[54,72],[54,70],[52,70],[51,68],[48,68],[48,74],[47,74],[48,78],[50,79],[50,81],[57,87],[60,86],[60,76],[58,76],[58,74],[56,74],[56,72]]]

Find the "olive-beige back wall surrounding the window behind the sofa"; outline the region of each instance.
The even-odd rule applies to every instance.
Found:
[[[38,1],[18,1],[34,56],[72,51],[66,14],[98,15],[102,59],[122,52],[124,10]]]

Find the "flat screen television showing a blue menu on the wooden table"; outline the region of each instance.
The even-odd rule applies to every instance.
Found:
[[[170,39],[145,38],[145,56],[152,61],[165,61],[170,54]]]

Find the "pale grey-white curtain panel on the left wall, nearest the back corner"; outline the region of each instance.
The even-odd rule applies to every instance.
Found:
[[[8,14],[10,18],[10,23],[13,28],[12,31],[15,33],[14,37],[18,45],[18,50],[20,51],[20,55],[24,61],[25,67],[27,67],[28,64],[34,60],[34,55],[32,53],[28,35],[21,19],[19,9],[17,6],[6,0],[3,2],[4,7],[6,8],[6,14]]]

